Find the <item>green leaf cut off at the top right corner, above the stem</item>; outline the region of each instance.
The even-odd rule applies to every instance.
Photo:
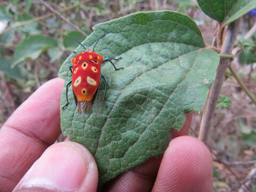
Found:
[[[256,0],[197,0],[197,3],[205,14],[223,25],[256,8]]]

